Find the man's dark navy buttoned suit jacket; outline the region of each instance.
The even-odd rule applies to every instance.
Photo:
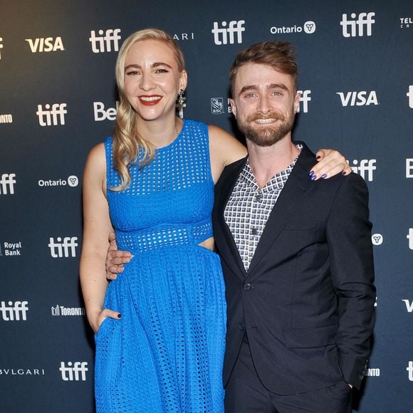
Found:
[[[360,387],[375,303],[364,180],[350,174],[312,182],[315,156],[304,145],[246,273],[224,221],[244,163],[224,169],[213,214],[228,305],[224,385],[246,331],[271,392],[308,392],[340,380]]]

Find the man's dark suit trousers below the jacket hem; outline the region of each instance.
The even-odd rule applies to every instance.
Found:
[[[351,413],[352,390],[346,382],[324,389],[281,396],[259,379],[248,343],[242,343],[225,390],[225,413]]]

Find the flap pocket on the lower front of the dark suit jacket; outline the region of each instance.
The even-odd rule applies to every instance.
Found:
[[[337,325],[323,327],[292,328],[283,330],[284,341],[288,348],[324,347],[335,344]]]

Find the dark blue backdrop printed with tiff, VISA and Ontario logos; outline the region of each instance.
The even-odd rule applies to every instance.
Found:
[[[370,189],[377,325],[354,409],[413,411],[411,0],[0,0],[0,12],[1,412],[94,411],[78,280],[83,166],[113,128],[122,40],[148,26],[184,51],[181,115],[236,135],[236,52],[296,46],[294,137],[343,152]]]

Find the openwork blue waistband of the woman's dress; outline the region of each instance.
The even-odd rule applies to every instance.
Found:
[[[147,251],[182,244],[199,244],[212,236],[212,223],[209,219],[199,224],[186,226],[164,226],[146,231],[116,231],[119,249],[125,251]]]

